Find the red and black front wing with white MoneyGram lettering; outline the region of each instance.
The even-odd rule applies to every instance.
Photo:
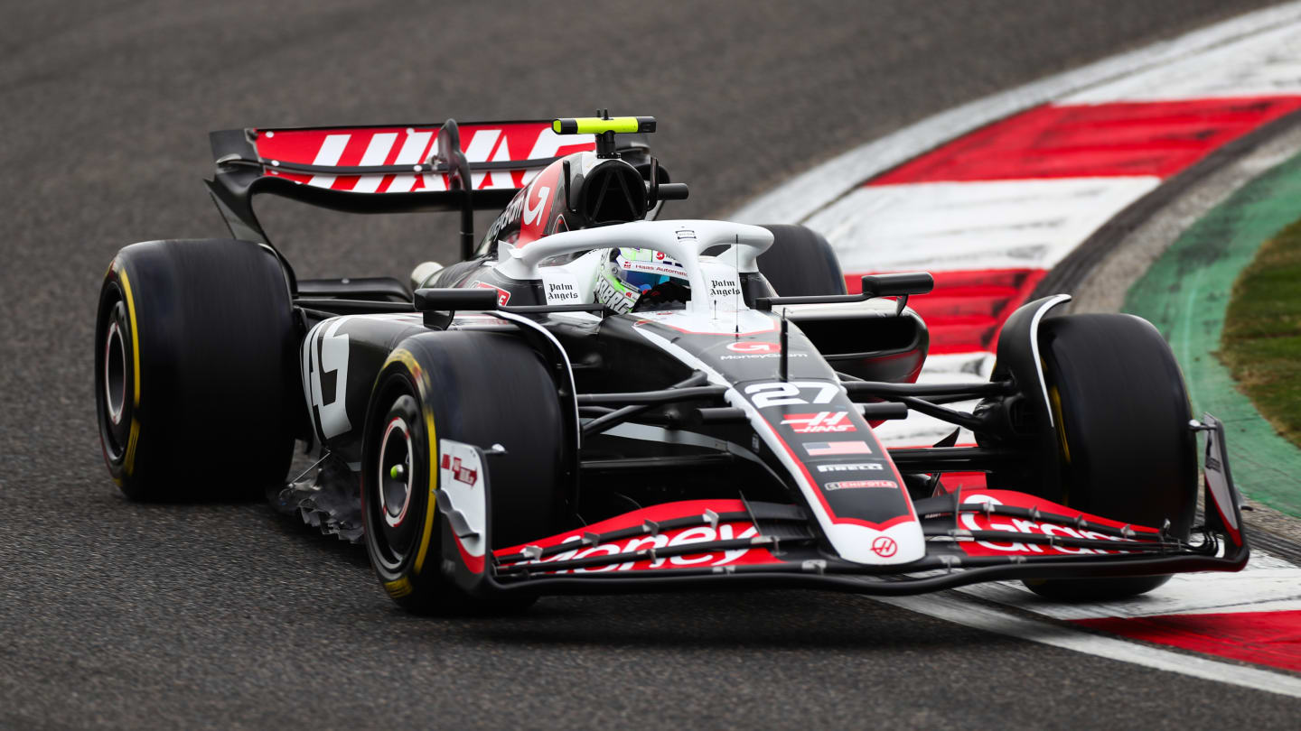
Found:
[[[656,505],[488,557],[467,546],[490,545],[490,515],[479,506],[490,505],[489,454],[481,484],[453,488],[455,499],[438,490],[444,557],[461,557],[445,570],[472,593],[553,594],[755,585],[915,594],[1004,579],[1237,571],[1249,548],[1224,429],[1210,415],[1197,428],[1206,434],[1206,518],[1189,540],[1019,492],[968,489],[915,502],[926,554],[905,565],[844,561],[825,549],[801,506],[743,499]],[[889,558],[895,546],[878,541],[872,550]]]

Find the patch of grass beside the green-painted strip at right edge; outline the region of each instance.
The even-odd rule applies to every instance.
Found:
[[[1270,424],[1301,446],[1301,221],[1266,242],[1233,282],[1216,355]]]

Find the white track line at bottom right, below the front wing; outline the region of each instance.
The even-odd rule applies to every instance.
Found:
[[[889,605],[916,611],[917,614],[963,624],[964,627],[985,630],[986,632],[998,632],[999,635],[1008,635],[1107,659],[1132,662],[1144,667],[1301,698],[1301,678],[1293,675],[1180,654],[1140,645],[1129,640],[1116,640],[1069,627],[1049,624],[1047,622],[1026,619],[951,594],[874,598]]]

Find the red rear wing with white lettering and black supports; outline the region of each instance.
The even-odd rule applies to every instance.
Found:
[[[461,211],[463,251],[475,209],[503,208],[536,170],[596,148],[596,135],[558,134],[550,120],[237,129],[209,139],[216,173],[206,182],[235,238],[271,245],[252,209],[269,193],[354,213]]]

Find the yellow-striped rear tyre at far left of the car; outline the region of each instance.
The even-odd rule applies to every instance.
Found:
[[[122,492],[229,499],[282,481],[301,399],[294,332],[285,276],[262,246],[118,251],[95,320],[95,410]]]

